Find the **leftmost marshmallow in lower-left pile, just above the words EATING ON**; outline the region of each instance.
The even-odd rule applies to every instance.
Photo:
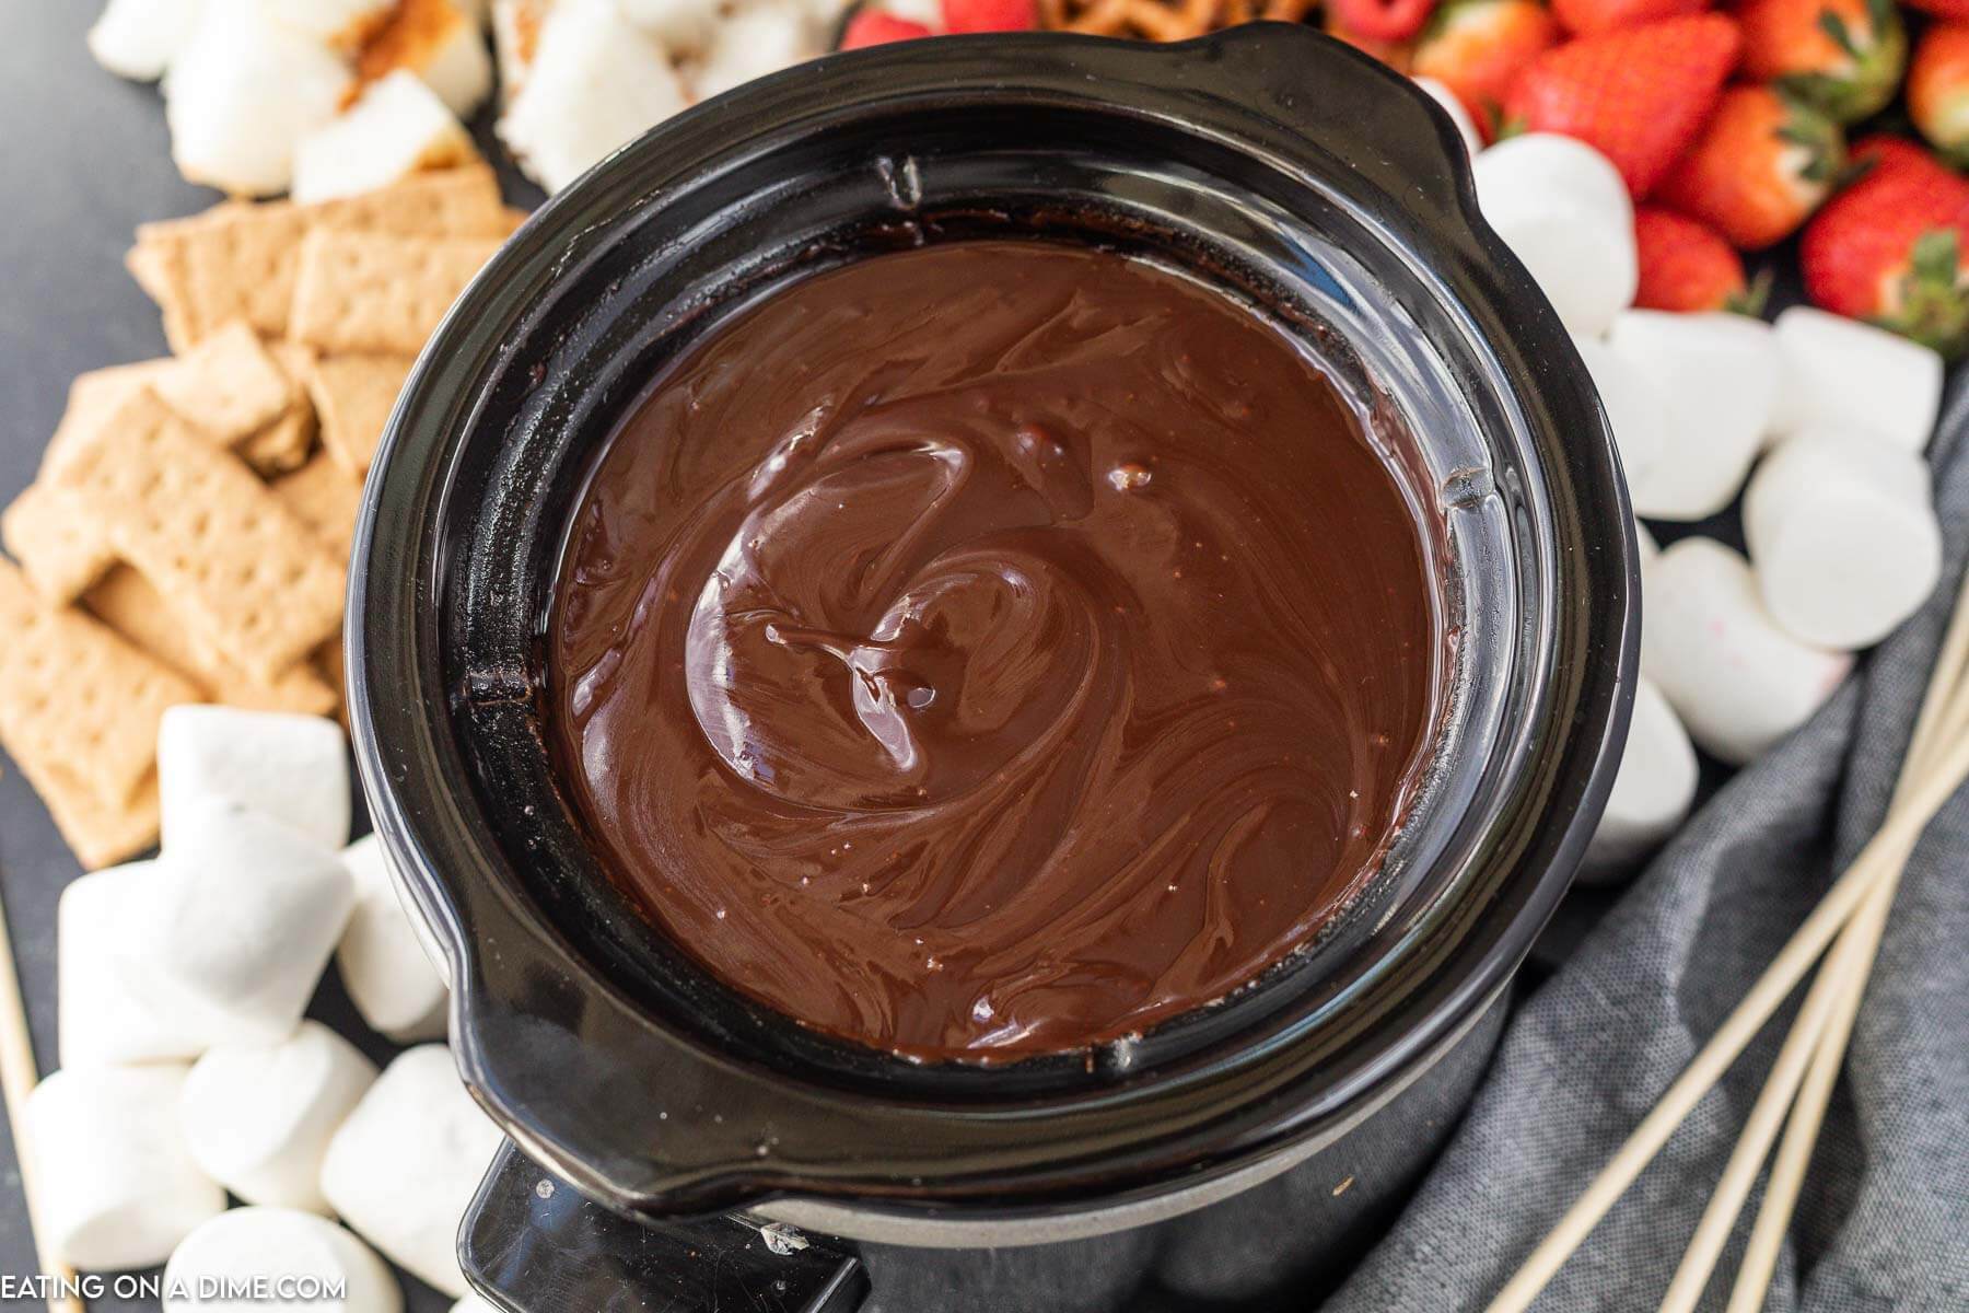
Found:
[[[161,1264],[226,1193],[197,1169],[177,1134],[185,1067],[57,1071],[24,1112],[39,1191],[35,1230],[83,1272]]]

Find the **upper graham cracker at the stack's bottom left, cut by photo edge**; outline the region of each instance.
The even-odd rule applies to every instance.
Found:
[[[165,707],[199,691],[75,606],[37,596],[4,561],[0,632],[0,742],[30,780],[55,780],[73,815],[85,801],[89,815],[120,813],[158,762]]]

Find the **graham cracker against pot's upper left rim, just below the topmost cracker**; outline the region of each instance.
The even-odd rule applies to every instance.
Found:
[[[301,242],[287,335],[323,352],[415,354],[498,246],[315,228]]]

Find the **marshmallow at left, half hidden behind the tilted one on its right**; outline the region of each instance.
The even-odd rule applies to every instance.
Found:
[[[106,1067],[197,1057],[205,1043],[177,1030],[132,986],[124,959],[148,939],[130,915],[132,896],[156,880],[156,862],[83,876],[61,890],[55,911],[57,1041],[63,1067]]]

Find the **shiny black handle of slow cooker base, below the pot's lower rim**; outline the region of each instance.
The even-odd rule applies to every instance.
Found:
[[[610,1213],[506,1142],[459,1230],[459,1264],[506,1313],[774,1309],[855,1313],[868,1293],[843,1242],[738,1215]]]

